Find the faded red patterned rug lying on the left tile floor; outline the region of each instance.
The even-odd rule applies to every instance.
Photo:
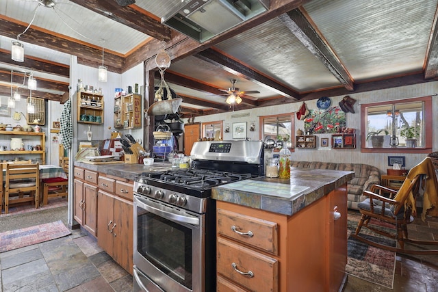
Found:
[[[24,248],[27,245],[57,239],[70,234],[70,230],[66,228],[62,221],[5,231],[0,233],[0,252]]]

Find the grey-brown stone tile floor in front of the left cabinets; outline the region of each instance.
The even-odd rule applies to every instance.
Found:
[[[0,254],[0,291],[132,291],[132,276],[82,230]]]

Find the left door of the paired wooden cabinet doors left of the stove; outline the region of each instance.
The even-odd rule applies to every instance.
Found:
[[[113,220],[113,206],[114,196],[108,194],[105,191],[99,190],[97,193],[97,206],[98,216],[97,216],[97,230],[99,230],[99,236],[97,237],[97,243],[99,246],[113,256],[113,239],[112,239],[112,228],[116,222]],[[116,228],[114,226],[114,228]]]

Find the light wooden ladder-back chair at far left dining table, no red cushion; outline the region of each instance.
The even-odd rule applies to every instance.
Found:
[[[5,175],[5,214],[11,204],[35,202],[38,208],[40,198],[40,165],[6,164]]]

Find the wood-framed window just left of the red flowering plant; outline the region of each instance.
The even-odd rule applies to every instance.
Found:
[[[283,114],[279,116],[261,116],[261,140],[272,139],[275,142],[286,143],[287,148],[292,148],[292,135],[294,135],[294,114]]]

